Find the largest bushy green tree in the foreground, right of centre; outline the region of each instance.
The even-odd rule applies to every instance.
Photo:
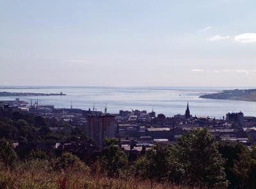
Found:
[[[203,130],[191,130],[177,142],[179,161],[184,166],[185,178],[200,188],[227,185],[224,160],[218,152],[214,136]]]

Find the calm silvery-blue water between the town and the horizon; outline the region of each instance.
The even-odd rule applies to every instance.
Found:
[[[104,110],[108,103],[108,112],[117,113],[119,110],[154,110],[157,114],[166,116],[184,114],[189,102],[191,114],[220,118],[227,112],[242,111],[245,116],[256,116],[256,102],[232,100],[211,100],[198,98],[201,94],[219,92],[220,87],[19,87],[1,89],[10,92],[31,93],[66,93],[67,96],[21,96],[20,100],[30,102],[36,98],[41,104],[54,105],[57,108],[89,109],[95,107]],[[225,88],[234,89],[234,88]],[[15,97],[0,97],[0,100],[14,100]]]

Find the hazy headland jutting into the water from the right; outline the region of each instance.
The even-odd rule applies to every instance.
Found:
[[[256,102],[256,89],[234,89],[223,90],[221,93],[204,94],[200,98],[223,99],[223,100],[244,100]]]

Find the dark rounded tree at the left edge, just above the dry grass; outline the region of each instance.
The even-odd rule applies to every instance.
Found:
[[[7,167],[17,159],[12,143],[5,139],[0,140],[0,159]]]

